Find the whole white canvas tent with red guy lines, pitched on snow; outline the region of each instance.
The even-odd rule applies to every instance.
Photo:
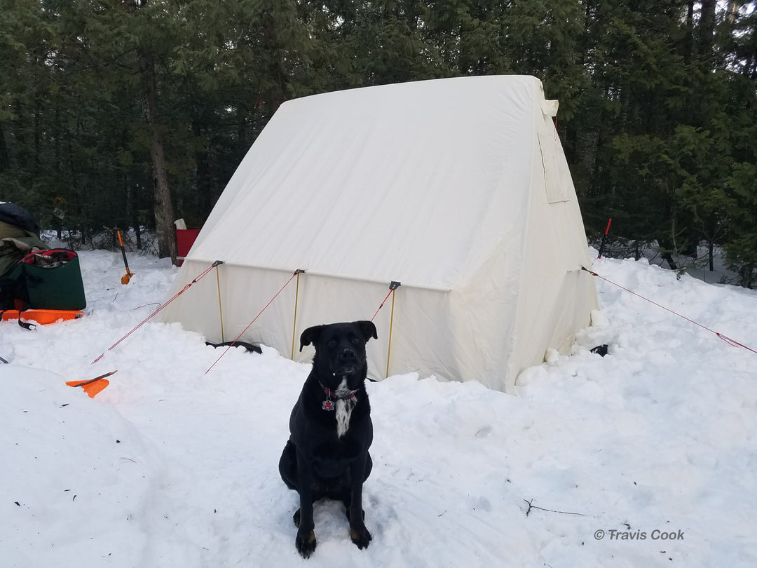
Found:
[[[285,102],[171,295],[213,261],[225,264],[170,304],[164,321],[230,341],[305,270],[241,340],[307,360],[310,348],[298,351],[305,328],[371,319],[396,281],[375,317],[369,376],[417,371],[511,390],[547,348],[568,351],[597,307],[556,110],[531,76]]]

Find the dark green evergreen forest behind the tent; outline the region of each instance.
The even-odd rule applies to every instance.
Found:
[[[618,254],[717,249],[757,286],[754,1],[0,0],[0,63],[0,201],[85,243],[175,258],[290,98],[528,74],[590,240],[612,218]]]

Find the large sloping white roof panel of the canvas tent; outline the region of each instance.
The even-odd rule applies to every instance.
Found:
[[[463,286],[519,248],[543,100],[534,77],[480,76],[285,102],[189,257]]]

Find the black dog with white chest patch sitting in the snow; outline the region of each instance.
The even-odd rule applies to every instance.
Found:
[[[368,453],[373,424],[365,385],[370,338],[378,335],[369,321],[310,327],[300,338],[300,351],[312,343],[316,356],[291,410],[279,473],[287,487],[300,494],[294,544],[305,558],[316,549],[313,503],[322,498],[347,507],[350,538],[357,548],[371,541],[363,523],[363,482],[373,466]]]

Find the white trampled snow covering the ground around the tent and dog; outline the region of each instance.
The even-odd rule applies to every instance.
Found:
[[[370,383],[372,543],[359,551],[341,504],[321,503],[302,560],[277,467],[309,365],[232,348],[206,374],[221,349],[152,322],[107,351],[176,269],[132,254],[123,286],[120,254],[80,258],[86,317],[0,323],[2,566],[757,565],[757,353],[615,284],[597,279],[595,325],[517,396]],[[753,291],[644,260],[593,270],[757,348]],[[95,399],[65,385],[111,370]]]

